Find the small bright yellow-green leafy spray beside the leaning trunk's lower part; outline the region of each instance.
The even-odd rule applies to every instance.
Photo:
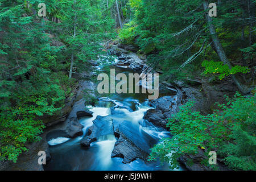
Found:
[[[205,67],[205,75],[208,73],[219,73],[220,75],[218,76],[218,78],[220,80],[229,75],[234,75],[236,73],[248,73],[250,71],[248,67],[242,67],[241,65],[236,65],[230,70],[228,65],[224,65],[221,61],[204,60],[202,66]]]

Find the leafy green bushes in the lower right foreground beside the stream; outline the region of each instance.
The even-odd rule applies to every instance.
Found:
[[[206,156],[207,151],[217,151],[230,168],[255,170],[256,96],[236,94],[227,101],[208,115],[193,111],[192,101],[181,106],[179,113],[174,114],[167,124],[174,136],[156,144],[151,149],[149,160],[159,158],[176,168],[179,156],[197,154],[202,148]],[[202,163],[207,165],[207,159]]]

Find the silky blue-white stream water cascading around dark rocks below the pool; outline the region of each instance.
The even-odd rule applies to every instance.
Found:
[[[80,118],[80,123],[84,126],[83,135],[75,139],[56,138],[48,142],[51,160],[44,166],[45,170],[97,170],[97,171],[151,171],[168,170],[168,164],[160,165],[159,162],[148,163],[141,159],[134,160],[129,164],[122,163],[122,158],[111,158],[111,154],[117,141],[114,135],[106,135],[90,144],[89,148],[82,148],[80,141],[85,137],[89,127],[93,126],[93,121],[98,115],[108,116],[115,121],[128,123],[129,129],[136,133],[137,138],[134,143],[145,148],[151,148],[159,139],[170,137],[170,133],[153,126],[144,121],[143,116],[148,109],[146,94],[112,94],[112,102],[100,101],[96,107],[90,107],[93,117]],[[114,103],[114,104],[113,104]],[[110,107],[115,104],[121,108],[115,108],[111,112]],[[135,136],[136,137],[136,136]]]

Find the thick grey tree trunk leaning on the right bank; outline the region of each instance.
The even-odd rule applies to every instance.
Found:
[[[209,3],[208,1],[204,1],[203,2],[203,6],[204,6],[204,10],[208,10],[209,7]],[[220,43],[220,40],[218,39],[218,36],[216,34],[216,30],[214,25],[212,24],[212,17],[209,16],[209,14],[206,15],[206,19],[207,19],[207,23],[209,25],[209,31],[210,31],[210,35],[212,36],[212,40],[213,40],[213,44],[214,47],[216,48],[216,52],[218,54],[218,57],[220,57],[220,60],[228,65],[229,69],[232,69],[232,65],[228,60],[228,57],[226,57],[226,54],[224,52],[224,49]],[[237,80],[237,78],[234,75],[231,75],[232,80],[234,81],[234,83],[237,85],[238,89],[240,90],[241,93],[243,94],[247,94],[249,93],[249,91],[245,90],[243,88],[243,86],[240,84],[240,82]]]

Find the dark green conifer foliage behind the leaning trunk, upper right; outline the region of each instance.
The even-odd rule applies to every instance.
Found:
[[[209,46],[212,38],[202,3],[187,0],[130,0],[135,17],[119,31],[119,38],[122,43],[135,44],[141,52],[146,53],[147,63],[163,72],[163,80],[171,81],[170,77],[175,77],[172,72],[174,69],[179,69],[177,72],[184,75],[198,76],[197,72],[213,73],[218,68],[220,79],[230,74],[253,71],[247,68],[253,68],[254,39],[254,44],[248,45],[250,31],[255,36],[255,26],[254,19],[249,18],[251,15],[247,2],[225,0],[218,5],[218,16],[213,18],[217,36],[226,56],[234,65],[231,71],[226,65],[217,65],[220,58],[214,45]],[[251,2],[250,12],[254,11],[253,3]],[[249,26],[250,23],[253,23],[252,27]],[[179,68],[200,50],[203,43],[203,51],[185,67]],[[216,65],[212,62],[203,63],[205,59],[215,61]],[[206,67],[207,71],[201,67],[202,63],[209,66]]]

